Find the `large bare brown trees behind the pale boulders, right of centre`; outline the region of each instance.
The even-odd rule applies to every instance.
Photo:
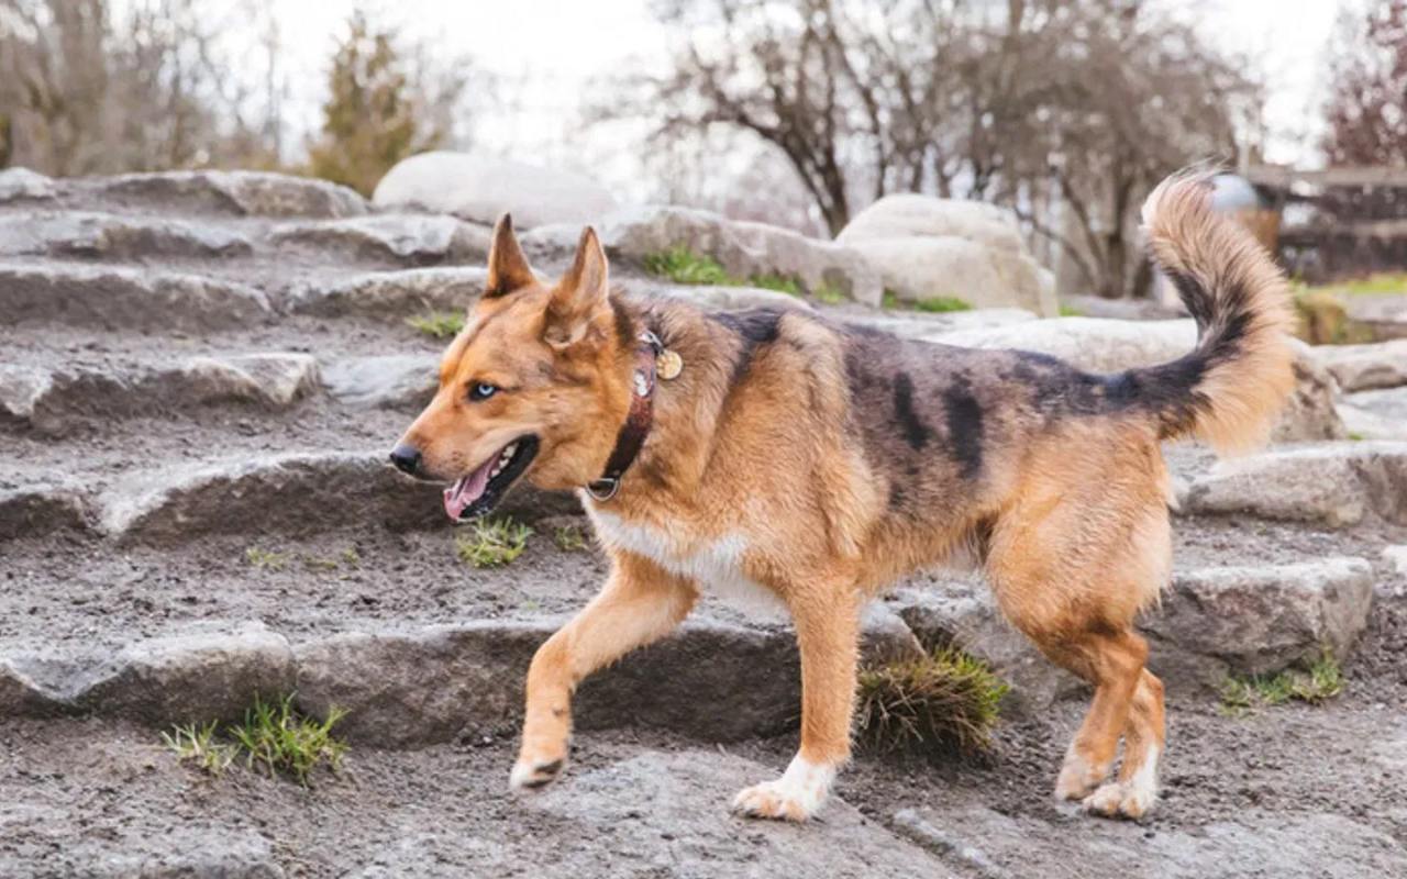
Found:
[[[1137,0],[656,8],[674,34],[670,72],[632,77],[598,115],[649,115],[663,139],[749,132],[787,158],[833,233],[895,191],[1010,205],[1103,295],[1138,285],[1141,195],[1180,165],[1230,156],[1255,91]]]

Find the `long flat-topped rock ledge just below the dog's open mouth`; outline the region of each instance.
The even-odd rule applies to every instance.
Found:
[[[404,477],[386,451],[241,456],[139,473],[100,499],[110,537],[176,543],[197,534],[290,537],[381,525],[404,530],[449,525],[442,487]],[[499,505],[521,520],[578,508],[574,495],[518,487]]]

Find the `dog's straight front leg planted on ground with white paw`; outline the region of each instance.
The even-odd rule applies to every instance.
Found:
[[[836,774],[850,759],[855,703],[860,605],[848,586],[816,585],[788,598],[801,647],[801,750],[777,781],[733,799],[733,810],[760,819],[805,821],[816,814]]]

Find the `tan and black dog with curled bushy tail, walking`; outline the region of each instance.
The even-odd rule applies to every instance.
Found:
[[[1055,795],[1148,813],[1164,695],[1133,622],[1172,564],[1159,442],[1252,447],[1293,385],[1285,277],[1209,194],[1204,174],[1176,174],[1142,210],[1196,347],[1113,376],[799,309],[632,301],[590,228],[550,284],[499,219],[485,290],[391,460],[453,482],[459,522],[519,481],[577,491],[609,556],[601,592],[532,661],[511,785],[561,774],[587,675],[666,636],[702,591],[743,589],[791,613],[802,716],[785,772],[733,809],[809,819],[850,758],[862,606],[972,550],[1006,619],[1093,686]]]

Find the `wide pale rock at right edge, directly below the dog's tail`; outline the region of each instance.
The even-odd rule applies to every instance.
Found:
[[[1180,498],[1190,515],[1356,525],[1407,523],[1407,443],[1318,443],[1218,463]]]

